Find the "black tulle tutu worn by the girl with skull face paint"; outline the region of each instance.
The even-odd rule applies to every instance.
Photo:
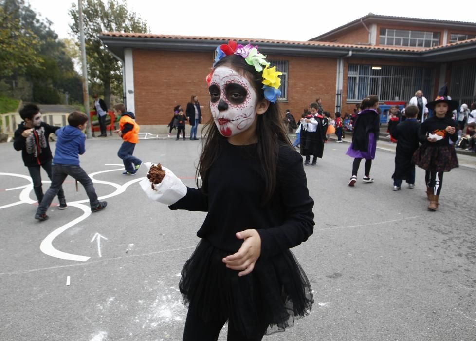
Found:
[[[190,309],[204,321],[233,319],[238,331],[251,338],[265,324],[269,335],[311,312],[311,284],[290,250],[258,259],[254,270],[242,277],[221,261],[227,255],[202,239],[183,266],[183,303],[193,303]]]

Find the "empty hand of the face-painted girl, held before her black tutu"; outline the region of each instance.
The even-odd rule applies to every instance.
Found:
[[[261,237],[256,230],[237,232],[238,239],[244,239],[238,252],[222,259],[226,267],[232,270],[244,270],[238,276],[245,276],[255,268],[255,263],[261,255]]]

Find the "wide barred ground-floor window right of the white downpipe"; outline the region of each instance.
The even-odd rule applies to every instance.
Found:
[[[433,98],[435,70],[414,66],[349,64],[347,101],[359,102],[368,95],[384,101],[405,101],[422,90],[426,98]]]

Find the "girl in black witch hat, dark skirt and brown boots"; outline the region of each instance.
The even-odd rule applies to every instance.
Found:
[[[413,162],[425,170],[426,194],[430,201],[428,209],[438,210],[439,194],[443,184],[443,172],[458,167],[455,148],[449,140],[458,139],[458,124],[451,118],[458,102],[448,98],[446,84],[441,87],[438,97],[426,105],[434,116],[425,120],[419,131],[422,145],[413,154]]]

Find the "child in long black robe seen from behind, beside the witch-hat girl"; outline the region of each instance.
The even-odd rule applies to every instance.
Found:
[[[408,106],[405,121],[393,125],[390,130],[393,138],[397,140],[395,171],[392,175],[393,190],[400,190],[402,180],[406,180],[409,188],[413,188],[415,184],[415,163],[412,157],[420,146],[418,137],[420,122],[416,118],[417,114],[417,106]]]

